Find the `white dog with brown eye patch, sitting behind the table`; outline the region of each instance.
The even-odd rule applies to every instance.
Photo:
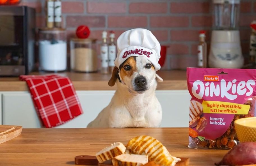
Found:
[[[157,81],[163,79],[155,73],[152,63],[144,56],[131,56],[119,69],[120,74],[118,67],[113,69],[108,82],[109,86],[117,84],[111,102],[87,127],[160,127],[162,107],[155,90]]]

